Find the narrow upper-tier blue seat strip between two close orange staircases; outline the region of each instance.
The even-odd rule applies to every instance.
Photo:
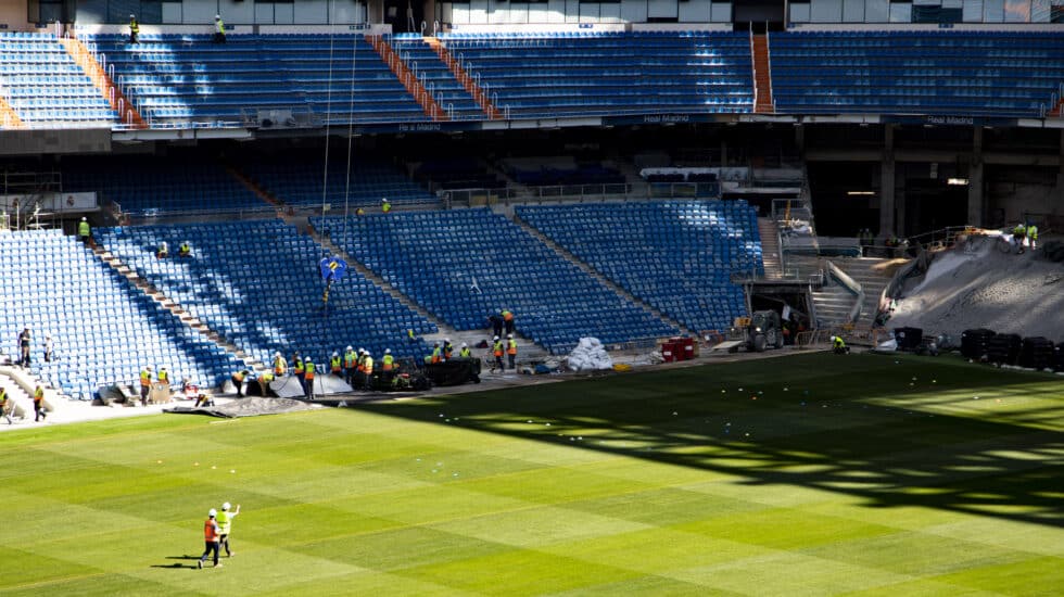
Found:
[[[484,112],[419,34],[384,37],[452,120],[482,120]]]

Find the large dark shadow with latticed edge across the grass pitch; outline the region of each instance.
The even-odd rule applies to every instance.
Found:
[[[856,495],[870,507],[1064,526],[1057,431],[1064,403],[1041,403],[1064,395],[1056,379],[946,358],[772,360],[778,365],[672,369],[355,408],[722,472],[748,485]],[[971,395],[973,385],[984,389],[984,402]]]

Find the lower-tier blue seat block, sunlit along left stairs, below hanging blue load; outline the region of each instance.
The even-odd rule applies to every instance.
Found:
[[[324,308],[318,262],[328,256],[309,237],[281,220],[127,227],[97,230],[97,241],[229,342],[269,364],[301,351],[315,363],[352,345],[380,357],[420,357],[406,330],[435,326],[349,268],[332,284]],[[170,257],[155,258],[161,241]],[[188,241],[192,257],[177,256]]]

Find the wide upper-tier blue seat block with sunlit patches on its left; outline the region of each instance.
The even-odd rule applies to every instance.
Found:
[[[380,55],[355,35],[206,35],[87,38],[152,126],[257,124],[258,110],[309,113],[313,124],[427,117]],[[354,80],[354,87],[352,81]],[[283,124],[283,123],[281,123]]]

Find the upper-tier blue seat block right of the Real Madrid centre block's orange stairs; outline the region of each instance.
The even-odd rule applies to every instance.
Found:
[[[769,37],[777,112],[1039,117],[1064,82],[1043,31],[788,31]]]

